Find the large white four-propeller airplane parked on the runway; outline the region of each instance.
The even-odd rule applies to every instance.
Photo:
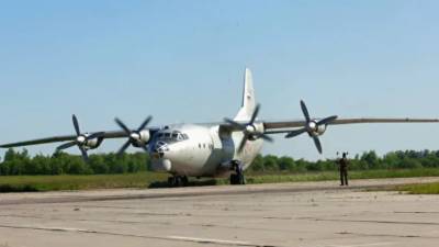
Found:
[[[188,177],[229,177],[230,184],[245,184],[244,171],[260,153],[263,142],[272,142],[274,134],[285,134],[285,138],[307,134],[322,154],[319,136],[328,126],[439,122],[438,119],[340,119],[337,115],[314,119],[304,101],[300,105],[304,120],[258,120],[260,104],[256,102],[251,71],[246,68],[241,108],[234,119],[224,119],[224,122],[148,127],[153,120],[148,116],[139,127],[130,128],[116,117],[115,123],[122,131],[82,133],[78,119],[72,115],[75,135],[3,144],[0,148],[66,142],[56,148],[56,153],[77,146],[87,161],[87,151],[98,148],[104,139],[127,138],[117,154],[122,155],[130,146],[143,148],[150,156],[153,171],[170,173],[168,183],[171,187],[187,186]]]

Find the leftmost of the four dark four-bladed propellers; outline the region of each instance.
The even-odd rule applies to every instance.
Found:
[[[87,148],[86,148],[87,143],[89,141],[91,141],[91,139],[94,139],[94,138],[104,137],[105,133],[104,132],[97,132],[97,133],[93,133],[93,134],[90,134],[90,135],[89,134],[81,134],[81,131],[79,128],[78,119],[76,117],[75,114],[71,117],[72,117],[74,127],[75,127],[75,132],[76,132],[76,139],[58,146],[56,148],[55,153],[59,153],[60,150],[70,148],[72,146],[78,146],[79,150],[81,151],[82,159],[87,162],[89,160],[89,156],[87,154]]]

